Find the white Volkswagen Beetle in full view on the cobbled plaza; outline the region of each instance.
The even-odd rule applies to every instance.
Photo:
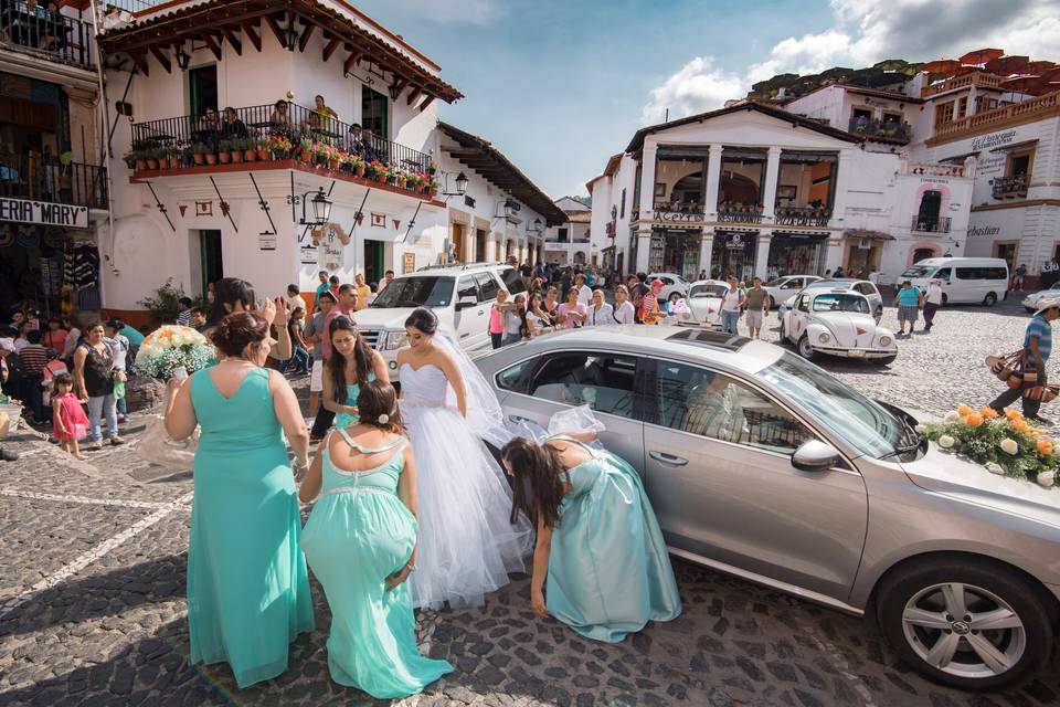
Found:
[[[818,354],[886,366],[898,356],[894,334],[877,325],[868,297],[849,289],[807,289],[781,319],[781,340],[806,359]]]

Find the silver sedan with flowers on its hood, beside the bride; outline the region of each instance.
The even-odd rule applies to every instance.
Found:
[[[1060,618],[1060,490],[929,449],[915,420],[784,349],[594,327],[476,359],[509,420],[589,404],[670,551],[854,614],[947,685],[1021,683]]]

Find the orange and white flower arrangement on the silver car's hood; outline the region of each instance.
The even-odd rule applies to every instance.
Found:
[[[992,474],[1013,476],[1050,488],[1060,466],[1057,445],[1017,410],[1005,414],[992,408],[961,405],[941,423],[918,425],[929,440],[946,451],[983,464]]]

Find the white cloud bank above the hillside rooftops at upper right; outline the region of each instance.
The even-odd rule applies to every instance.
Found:
[[[956,59],[984,46],[1060,60],[1060,0],[830,0],[834,24],[777,42],[743,75],[697,56],[651,89],[642,122],[678,118],[742,98],[751,84],[780,73],[868,66],[884,59]]]

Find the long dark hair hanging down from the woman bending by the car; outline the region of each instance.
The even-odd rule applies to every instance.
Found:
[[[516,437],[500,451],[500,460],[515,477],[511,497],[511,523],[522,513],[534,525],[540,519],[548,527],[560,523],[563,479],[566,472],[560,453],[526,437]]]

